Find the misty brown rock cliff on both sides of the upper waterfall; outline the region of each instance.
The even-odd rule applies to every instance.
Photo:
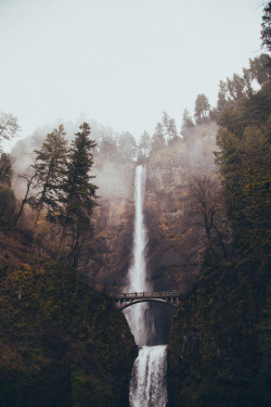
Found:
[[[196,126],[185,139],[154,152],[146,165],[144,221],[147,272],[153,290],[186,291],[198,275],[204,229],[191,216],[193,176],[215,169],[217,125]],[[121,291],[132,257],[133,163],[95,161],[100,206],[95,212],[93,256],[85,276],[95,288]]]

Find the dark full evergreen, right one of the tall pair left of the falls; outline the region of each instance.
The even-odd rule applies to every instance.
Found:
[[[96,144],[89,138],[88,123],[83,123],[80,130],[75,135],[76,138],[68,153],[66,177],[63,183],[63,208],[56,216],[56,220],[63,227],[59,256],[67,240],[67,257],[72,259],[73,267],[78,266],[83,244],[87,243],[87,238],[91,237],[91,216],[98,198],[95,194],[98,187],[91,182],[94,177],[90,175],[93,166],[91,151]]]

